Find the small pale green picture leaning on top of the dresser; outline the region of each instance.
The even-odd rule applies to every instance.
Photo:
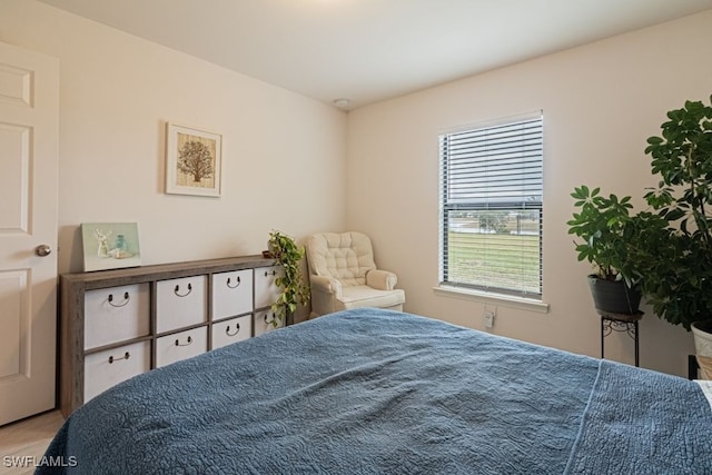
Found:
[[[85,273],[141,265],[137,222],[82,222]]]

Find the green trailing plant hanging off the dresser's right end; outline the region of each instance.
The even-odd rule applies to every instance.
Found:
[[[284,269],[284,274],[275,279],[280,293],[277,300],[271,305],[271,310],[276,317],[273,320],[273,325],[277,326],[278,321],[296,311],[297,305],[307,305],[309,303],[309,287],[304,281],[299,267],[305,255],[304,247],[297,246],[291,237],[273,230],[269,234],[269,253]]]

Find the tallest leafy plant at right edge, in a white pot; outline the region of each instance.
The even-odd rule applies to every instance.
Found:
[[[712,106],[686,101],[668,119],[645,149],[661,177],[645,199],[664,225],[640,259],[643,291],[659,317],[693,330],[698,355],[712,356]]]

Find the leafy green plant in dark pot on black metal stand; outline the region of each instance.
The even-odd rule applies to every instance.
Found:
[[[578,260],[587,260],[594,273],[589,275],[589,286],[594,305],[602,313],[635,314],[641,301],[640,273],[629,259],[636,244],[640,228],[631,197],[619,198],[601,195],[600,188],[583,185],[571,196],[576,200],[576,211],[568,220],[568,234],[574,241]]]

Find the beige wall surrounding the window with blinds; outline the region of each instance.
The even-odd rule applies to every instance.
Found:
[[[436,296],[438,157],[443,128],[542,109],[545,125],[544,300],[547,314],[497,306],[493,333],[600,354],[599,319],[565,222],[581,184],[630,194],[654,184],[643,154],[665,112],[712,93],[712,11],[364,107],[347,126],[347,226],[372,235],[395,270],[406,310],[483,328],[483,304]],[[476,48],[473,48],[476,51]],[[490,305],[488,305],[490,308]],[[650,310],[642,366],[685,375],[692,337]],[[614,335],[606,356],[633,360]]]

